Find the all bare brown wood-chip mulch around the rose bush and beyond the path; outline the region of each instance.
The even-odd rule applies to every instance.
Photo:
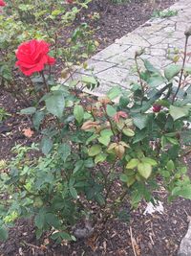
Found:
[[[151,16],[154,9],[164,9],[173,2],[159,1],[153,6],[148,1],[131,1],[108,6],[106,1],[105,5],[99,7],[93,5],[92,12],[100,12],[100,19],[96,22],[96,28],[99,28],[96,31],[99,50],[133,31]],[[15,144],[30,145],[37,139],[37,134],[34,132],[32,138],[23,134],[23,129],[30,128],[32,124],[28,118],[18,114],[22,106],[9,94],[0,94],[2,106],[11,113],[11,117],[0,123],[0,159],[8,159],[11,158],[11,148]],[[188,157],[188,166],[191,164],[189,161]],[[191,170],[189,172],[191,174]],[[0,255],[175,256],[190,220],[191,201],[179,198],[169,204],[163,190],[156,192],[158,196],[162,198],[164,213],[143,215],[146,207],[143,201],[137,210],[131,212],[130,222],[108,221],[96,241],[92,238],[59,246],[52,243],[44,245],[45,240],[35,240],[32,221],[18,221],[10,230],[9,241],[0,244]]]

